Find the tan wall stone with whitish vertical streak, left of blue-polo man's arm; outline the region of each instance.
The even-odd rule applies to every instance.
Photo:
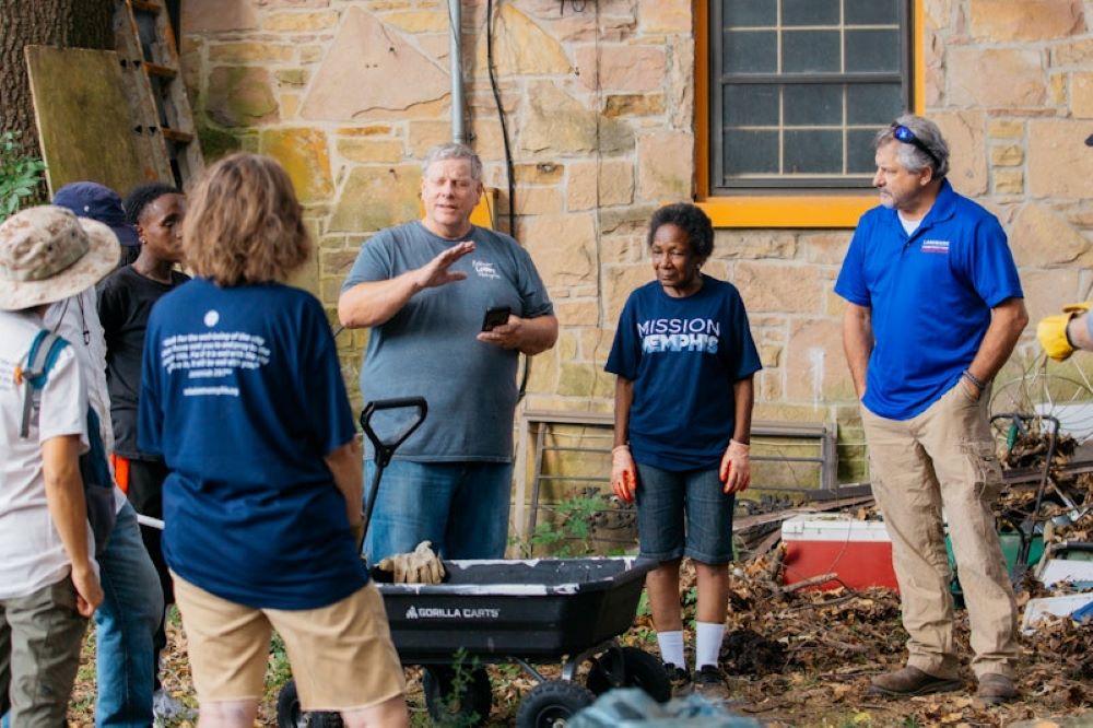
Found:
[[[814,404],[854,396],[835,319],[795,320],[786,352],[786,398]]]

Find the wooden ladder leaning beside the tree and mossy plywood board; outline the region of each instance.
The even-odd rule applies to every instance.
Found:
[[[204,167],[175,34],[162,0],[114,0],[114,35],[138,152],[161,181],[188,189]]]

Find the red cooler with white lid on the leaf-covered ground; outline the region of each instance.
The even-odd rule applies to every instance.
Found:
[[[781,540],[786,544],[786,584],[833,573],[854,589],[898,589],[892,570],[892,541],[883,521],[843,514],[794,516],[781,524]],[[839,583],[832,580],[815,588],[837,586]]]

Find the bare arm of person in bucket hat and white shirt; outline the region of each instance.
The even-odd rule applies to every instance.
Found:
[[[87,504],[80,475],[80,436],[61,435],[44,442],[42,473],[49,517],[72,564],[77,609],[91,617],[103,601],[103,589],[87,553]]]

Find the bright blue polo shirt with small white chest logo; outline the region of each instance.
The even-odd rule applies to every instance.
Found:
[[[998,219],[949,180],[909,236],[895,210],[862,215],[835,293],[871,309],[875,343],[862,404],[890,420],[920,414],[956,384],[990,309],[1023,297]]]

